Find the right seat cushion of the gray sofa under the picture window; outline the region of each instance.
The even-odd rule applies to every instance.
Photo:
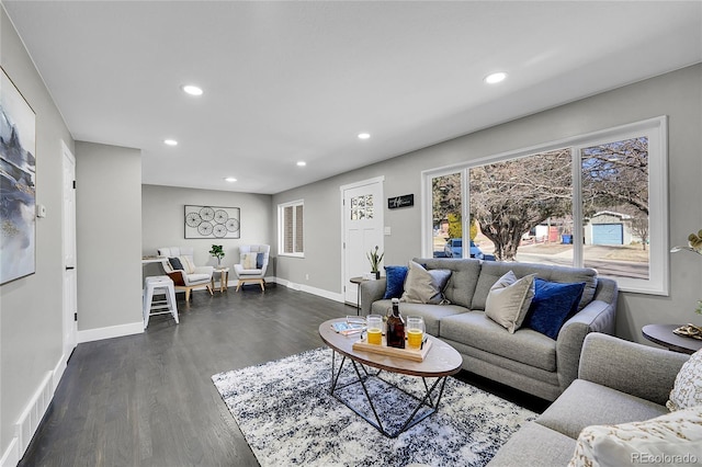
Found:
[[[453,315],[441,320],[440,337],[510,358],[546,372],[556,371],[556,343],[531,329],[510,334],[484,311]]]

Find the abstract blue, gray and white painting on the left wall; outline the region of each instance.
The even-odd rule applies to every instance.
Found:
[[[0,284],[36,272],[36,117],[0,76]]]

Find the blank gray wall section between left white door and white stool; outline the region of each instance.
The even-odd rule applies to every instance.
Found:
[[[76,179],[78,331],[141,322],[141,151],[77,141]]]

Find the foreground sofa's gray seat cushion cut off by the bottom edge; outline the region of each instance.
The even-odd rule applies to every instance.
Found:
[[[539,423],[528,422],[500,447],[488,467],[565,466],[575,440]]]

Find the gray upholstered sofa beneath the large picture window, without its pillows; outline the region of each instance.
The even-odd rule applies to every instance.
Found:
[[[616,312],[616,283],[598,277],[592,269],[505,263],[474,259],[415,259],[427,270],[451,270],[443,292],[450,304],[401,303],[404,316],[424,318],[427,333],[437,335],[463,356],[463,368],[546,400],[555,400],[578,374],[582,341],[590,332],[612,334]],[[517,277],[535,273],[545,281],[585,282],[579,311],[569,318],[553,340],[529,328],[509,333],[485,316],[490,287],[505,273]],[[386,280],[361,284],[364,315],[385,315]]]

